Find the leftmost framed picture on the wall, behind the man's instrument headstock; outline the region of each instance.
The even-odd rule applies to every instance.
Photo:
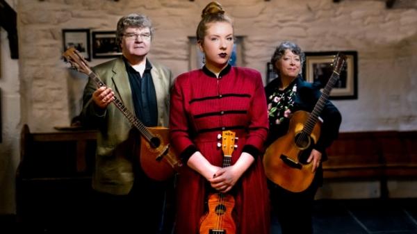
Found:
[[[74,47],[85,60],[90,61],[90,29],[63,29],[63,49]]]

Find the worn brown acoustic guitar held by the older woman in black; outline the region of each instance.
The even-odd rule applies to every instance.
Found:
[[[302,192],[313,181],[315,174],[311,172],[313,164],[307,163],[306,160],[320,137],[321,123],[318,122],[318,117],[329,98],[332,87],[338,80],[345,60],[346,57],[343,54],[337,54],[333,62],[332,76],[322,90],[313,111],[311,113],[303,110],[294,112],[290,119],[288,133],[272,142],[265,150],[263,167],[266,177],[286,190]]]

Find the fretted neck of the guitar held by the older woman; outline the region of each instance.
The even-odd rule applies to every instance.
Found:
[[[329,81],[327,81],[325,88],[322,90],[322,94],[320,95],[316,106],[314,106],[313,111],[311,112],[309,118],[306,121],[306,124],[304,125],[304,128],[302,129],[304,133],[311,135],[311,132],[313,131],[313,128],[318,121],[320,112],[322,112],[323,108],[325,107],[327,99],[329,99],[330,91],[332,91],[332,88],[336,84],[338,77],[339,74],[333,71],[332,76],[330,76]]]

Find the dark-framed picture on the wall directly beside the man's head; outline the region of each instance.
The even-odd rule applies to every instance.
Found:
[[[115,31],[92,32],[92,58],[115,58],[122,55]]]

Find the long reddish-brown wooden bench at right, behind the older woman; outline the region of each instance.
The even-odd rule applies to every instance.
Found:
[[[340,133],[327,156],[325,180],[377,179],[388,197],[388,179],[417,177],[417,131]]]

